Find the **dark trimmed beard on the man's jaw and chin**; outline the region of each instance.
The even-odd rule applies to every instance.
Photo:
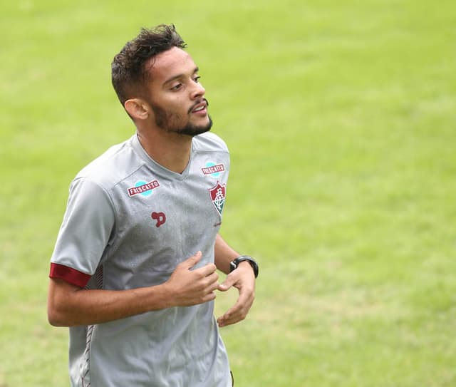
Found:
[[[204,98],[204,100],[206,99]],[[206,103],[209,105],[207,100]],[[182,125],[182,116],[178,115],[177,113],[167,112],[165,109],[160,108],[160,106],[156,105],[155,103],[150,103],[150,106],[154,111],[155,124],[159,128],[162,128],[169,133],[190,135],[193,137],[195,135],[206,133],[212,128],[212,118],[210,115],[207,115],[207,118],[209,119],[207,124],[194,125],[190,123],[190,120],[187,120],[187,123],[185,123],[185,125]],[[189,110],[188,114],[190,114],[191,110],[192,109]]]

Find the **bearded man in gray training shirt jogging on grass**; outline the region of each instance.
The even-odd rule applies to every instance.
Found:
[[[229,153],[174,26],[112,63],[136,126],[78,173],[51,258],[48,319],[70,326],[72,386],[232,386],[219,326],[245,318],[256,262],[218,231]],[[227,275],[219,284],[217,269]],[[216,291],[239,289],[214,318]]]

